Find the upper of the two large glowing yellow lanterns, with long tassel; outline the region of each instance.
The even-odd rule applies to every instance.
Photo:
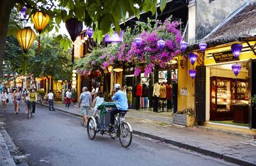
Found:
[[[31,15],[31,20],[34,22],[36,31],[38,31],[39,35],[44,31],[45,27],[50,22],[50,17],[47,13],[42,13],[42,11],[36,11],[33,15]],[[38,36],[38,53],[40,53],[40,36]]]

